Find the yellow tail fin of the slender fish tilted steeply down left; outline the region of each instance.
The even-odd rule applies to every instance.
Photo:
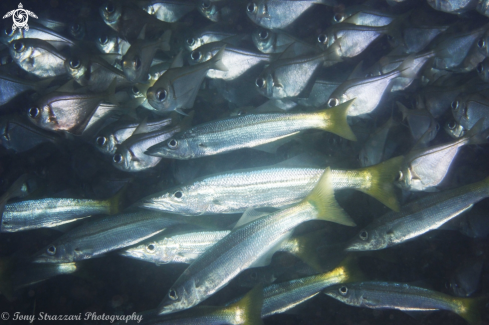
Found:
[[[303,200],[314,207],[317,218],[320,220],[336,222],[345,226],[356,226],[355,222],[339,206],[334,198],[331,169],[328,167],[319,179],[316,187]]]

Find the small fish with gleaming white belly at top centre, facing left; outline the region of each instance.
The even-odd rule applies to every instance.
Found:
[[[224,42],[212,42],[204,44],[189,54],[188,62],[190,65],[202,64],[211,60],[221,48],[226,46],[221,62],[227,67],[226,71],[210,69],[207,77],[211,79],[234,80],[257,65],[270,63],[272,56],[255,51],[248,51]]]

